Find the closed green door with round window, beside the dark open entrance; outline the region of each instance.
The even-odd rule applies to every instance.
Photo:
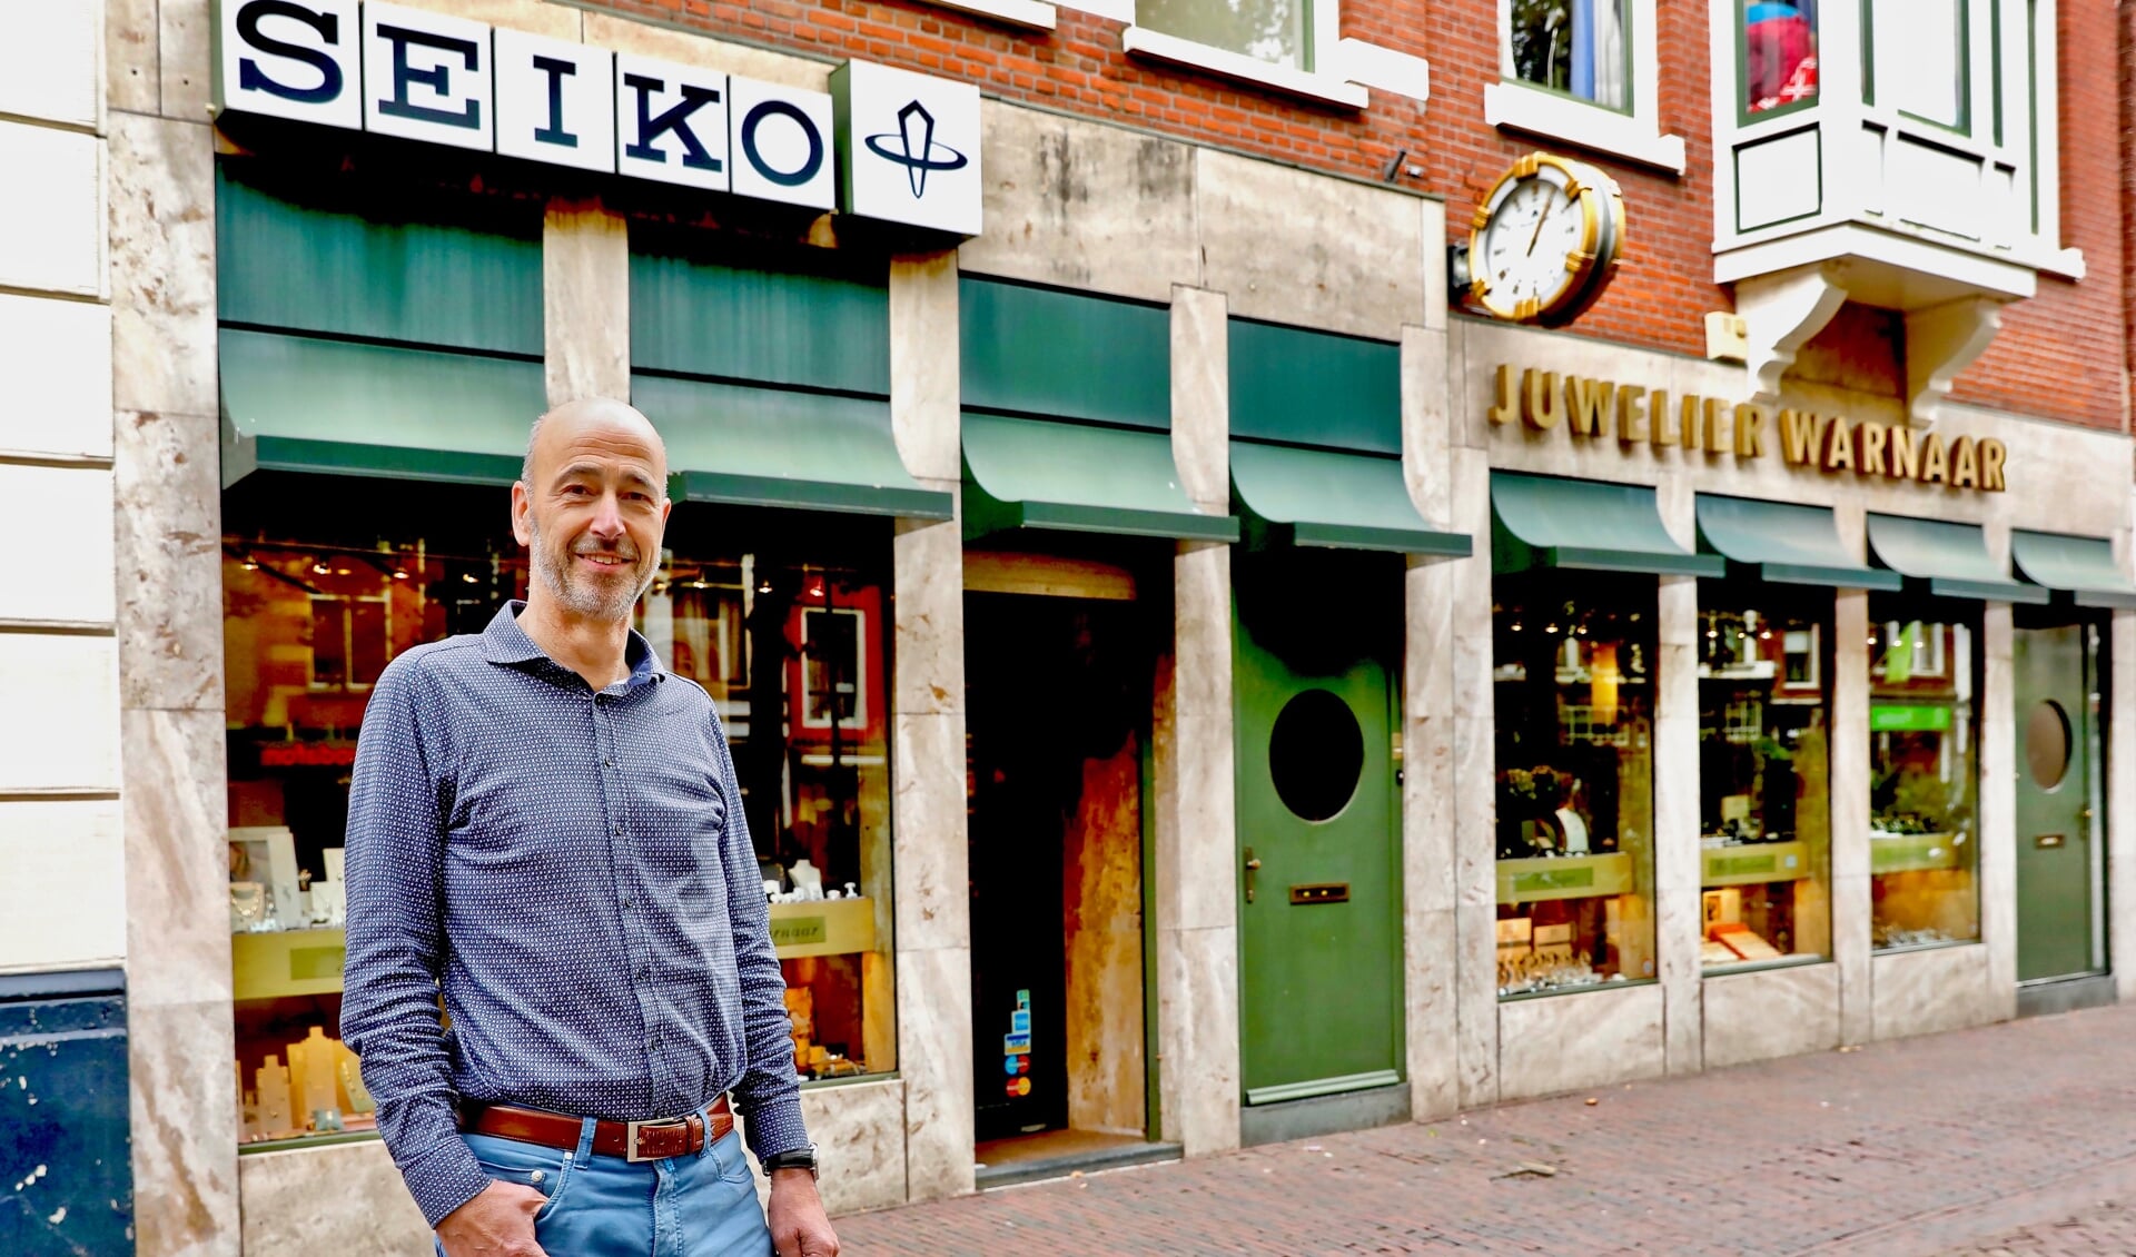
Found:
[[[1367,608],[1348,595],[1329,600],[1329,576],[1326,566],[1316,578],[1286,559],[1235,563],[1247,1103],[1401,1080],[1397,721],[1388,664],[1388,647],[1399,642],[1399,602]],[[1373,568],[1363,578],[1388,585],[1399,598],[1399,568]],[[1348,580],[1333,585],[1352,589]]]

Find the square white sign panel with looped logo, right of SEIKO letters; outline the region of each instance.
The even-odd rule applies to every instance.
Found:
[[[978,87],[846,62],[831,70],[846,213],[980,230]]]

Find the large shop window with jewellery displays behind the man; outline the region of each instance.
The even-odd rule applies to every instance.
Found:
[[[427,491],[382,523],[376,480],[252,478],[224,497],[229,875],[246,1144],[374,1127],[342,1005],[348,773],[370,683],[395,655],[478,634],[525,598],[500,489]],[[637,625],[711,694],[741,783],[803,1080],[895,1069],[886,747],[886,546],[684,506]],[[713,540],[720,538],[720,540]],[[822,538],[810,540],[810,538]],[[831,551],[812,553],[812,546]],[[799,553],[797,553],[799,551]],[[833,559],[833,561],[824,561]]]

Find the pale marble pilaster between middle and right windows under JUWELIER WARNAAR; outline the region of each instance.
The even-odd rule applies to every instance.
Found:
[[[1846,536],[1846,534],[1841,534]],[[1869,884],[1869,593],[1833,602],[1833,960],[1839,965],[1839,1041],[1867,1044],[1871,1016]]]

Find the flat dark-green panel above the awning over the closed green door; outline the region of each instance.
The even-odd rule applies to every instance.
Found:
[[[1401,346],[1230,320],[1230,435],[1401,455]]]

